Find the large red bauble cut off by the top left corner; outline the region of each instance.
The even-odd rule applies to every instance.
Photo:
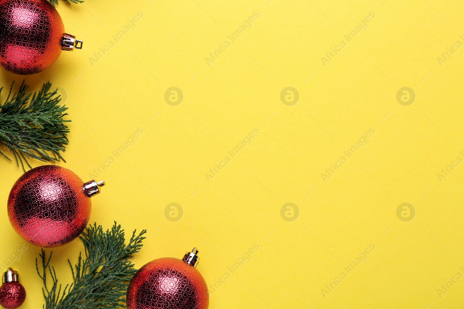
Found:
[[[78,46],[80,44],[80,46]],[[16,74],[51,66],[61,50],[81,49],[64,33],[63,20],[47,0],[0,0],[0,65]]]

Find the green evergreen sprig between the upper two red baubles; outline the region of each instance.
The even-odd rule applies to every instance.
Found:
[[[70,131],[65,122],[71,120],[63,119],[68,108],[59,105],[57,89],[50,92],[52,84],[47,82],[38,93],[26,95],[29,86],[23,81],[18,92],[12,94],[13,84],[14,81],[6,101],[0,103],[0,158],[12,161],[8,153],[11,151],[16,165],[20,163],[24,171],[23,160],[32,168],[29,158],[52,163],[64,161],[60,151],[64,152],[68,144],[66,134]]]

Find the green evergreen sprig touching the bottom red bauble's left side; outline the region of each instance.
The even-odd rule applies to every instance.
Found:
[[[79,259],[74,267],[71,266],[73,282],[66,284],[62,290],[53,266],[50,266],[52,252],[46,256],[45,251],[39,254],[42,260],[42,271],[39,271],[38,259],[35,267],[39,277],[44,282],[42,288],[45,305],[44,309],[102,309],[126,308],[124,296],[129,281],[137,271],[130,258],[142,248],[142,230],[137,236],[132,232],[129,244],[124,244],[124,230],[121,225],[113,225],[111,230],[103,232],[97,223],[85,228],[79,236],[84,243],[85,257],[79,253]],[[47,277],[52,282],[47,283]],[[51,285],[51,287],[50,287]]]

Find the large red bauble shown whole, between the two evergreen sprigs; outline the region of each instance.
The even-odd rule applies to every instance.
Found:
[[[90,217],[90,196],[104,182],[83,183],[71,170],[43,165],[24,173],[10,191],[8,217],[24,240],[56,247],[74,240]]]

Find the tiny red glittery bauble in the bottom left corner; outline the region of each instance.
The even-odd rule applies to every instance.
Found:
[[[18,272],[8,268],[3,274],[3,284],[0,287],[0,305],[6,309],[15,309],[26,300],[26,290],[19,283]]]

